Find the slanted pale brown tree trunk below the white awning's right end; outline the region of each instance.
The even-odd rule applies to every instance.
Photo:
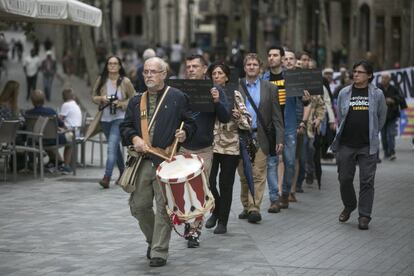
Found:
[[[85,56],[89,83],[93,84],[98,78],[99,68],[96,59],[95,44],[92,40],[91,27],[79,26],[79,36],[82,43],[82,51]]]

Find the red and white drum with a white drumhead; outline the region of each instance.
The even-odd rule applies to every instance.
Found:
[[[167,200],[167,212],[180,222],[192,222],[214,208],[201,157],[183,154],[164,161],[157,168],[157,179]]]

